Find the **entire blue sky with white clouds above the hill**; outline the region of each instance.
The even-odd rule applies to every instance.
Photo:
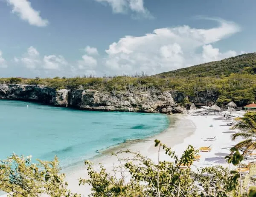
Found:
[[[152,75],[255,52],[255,8],[255,0],[0,0],[0,77]]]

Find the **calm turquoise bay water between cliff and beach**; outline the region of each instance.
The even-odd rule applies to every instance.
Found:
[[[13,152],[42,160],[57,155],[67,167],[96,156],[97,150],[167,127],[168,118],[161,114],[80,111],[0,100],[0,159]]]

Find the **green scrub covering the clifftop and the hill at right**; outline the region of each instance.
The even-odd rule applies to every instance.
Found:
[[[93,76],[53,79],[0,79],[0,83],[41,84],[54,88],[83,88],[116,91],[135,91],[146,89],[175,90],[184,93],[188,99],[181,104],[197,102],[197,97],[208,95],[212,102],[226,105],[234,101],[244,106],[256,100],[256,53],[247,53],[216,62],[183,68],[154,76],[145,73],[134,76],[112,76],[96,78]],[[218,99],[218,100],[217,100]]]

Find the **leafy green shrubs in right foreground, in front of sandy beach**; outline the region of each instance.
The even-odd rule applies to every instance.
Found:
[[[90,178],[80,179],[80,184],[89,184],[92,187],[91,197],[253,197],[255,195],[253,188],[250,188],[250,195],[247,189],[243,189],[244,178],[237,171],[230,172],[221,166],[198,169],[197,172],[192,172],[190,168],[181,168],[192,164],[196,154],[192,146],[183,152],[181,158],[160,141],[156,140],[155,146],[159,150],[158,154],[160,149],[164,149],[172,161],[158,160],[158,163],[154,163],[140,153],[126,151],[133,156],[129,159],[121,159],[124,163],[114,170],[114,175],[108,174],[102,165],[97,172],[93,169],[92,163],[86,161]],[[227,159],[237,165],[241,158],[241,155],[231,155]],[[116,176],[117,172],[119,176]]]

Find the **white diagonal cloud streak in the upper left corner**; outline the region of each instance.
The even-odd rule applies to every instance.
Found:
[[[22,20],[26,20],[30,25],[44,27],[48,25],[48,20],[40,17],[40,11],[31,7],[28,0],[7,0],[12,6],[12,13],[17,14]]]

